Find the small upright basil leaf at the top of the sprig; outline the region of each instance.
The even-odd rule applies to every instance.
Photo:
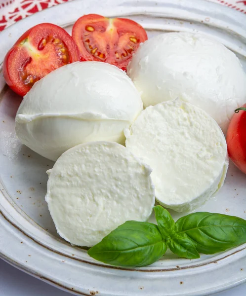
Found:
[[[155,206],[154,210],[158,228],[161,231],[163,238],[167,238],[171,234],[176,233],[176,225],[170,213],[162,206]]]

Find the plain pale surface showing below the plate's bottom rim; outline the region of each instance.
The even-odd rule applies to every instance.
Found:
[[[0,260],[0,296],[71,296]],[[246,296],[246,283],[214,294],[214,296]]]

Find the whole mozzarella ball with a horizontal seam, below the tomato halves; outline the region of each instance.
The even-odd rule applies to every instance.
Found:
[[[122,70],[78,62],[35,83],[19,107],[15,130],[22,144],[55,161],[89,141],[123,144],[123,129],[142,110],[140,94]]]

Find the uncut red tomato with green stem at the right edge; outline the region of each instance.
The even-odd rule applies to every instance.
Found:
[[[246,104],[242,107],[246,108]],[[233,115],[226,142],[229,157],[246,174],[246,111],[240,110]]]

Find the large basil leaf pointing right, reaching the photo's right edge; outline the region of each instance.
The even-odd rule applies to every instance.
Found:
[[[177,233],[192,239],[197,251],[214,254],[246,243],[246,220],[207,212],[192,213],[176,222]]]

